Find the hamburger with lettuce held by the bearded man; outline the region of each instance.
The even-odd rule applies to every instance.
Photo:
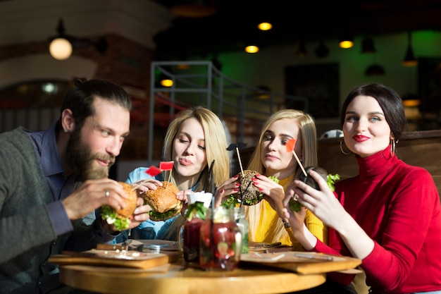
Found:
[[[133,190],[132,185],[124,182],[118,182],[123,186],[124,191],[129,196],[125,199],[125,207],[123,209],[113,209],[108,205],[101,207],[101,219],[105,219],[108,224],[113,224],[116,230],[124,231],[130,226],[130,218],[135,211],[137,202],[137,192]]]

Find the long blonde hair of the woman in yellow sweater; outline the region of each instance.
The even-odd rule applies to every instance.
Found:
[[[251,155],[247,169],[251,169],[265,175],[265,166],[263,166],[261,161],[261,143],[263,141],[263,137],[266,130],[268,130],[272,123],[285,118],[294,119],[299,127],[299,135],[302,136],[302,156],[300,156],[300,154],[297,155],[303,159],[303,165],[305,167],[317,166],[317,132],[316,124],[314,123],[313,118],[303,111],[295,109],[283,109],[273,114],[263,125],[258,145]],[[300,169],[299,165],[297,164],[294,178],[297,178],[300,173],[302,173],[302,169]],[[284,187],[285,189],[287,188],[287,185],[290,185],[290,183],[286,184]],[[256,205],[244,207],[249,222],[250,240],[254,240],[254,232],[259,229],[259,217],[261,214],[262,204],[263,201]],[[283,228],[282,221],[278,222],[276,227],[273,229],[276,232],[275,240],[280,240],[282,236],[287,235],[285,229]]]

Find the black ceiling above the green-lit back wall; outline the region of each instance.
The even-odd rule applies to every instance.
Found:
[[[177,0],[156,0],[172,8]],[[202,0],[183,1],[198,2]],[[206,1],[205,1],[206,2]],[[441,30],[441,1],[435,0],[211,0],[216,13],[202,18],[175,16],[172,26],[155,37],[156,59],[190,59],[193,55],[411,30]],[[262,32],[261,20],[273,23]]]

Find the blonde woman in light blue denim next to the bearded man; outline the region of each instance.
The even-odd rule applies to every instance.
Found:
[[[186,109],[170,123],[163,143],[162,160],[173,161],[173,170],[151,178],[145,173],[148,168],[140,167],[130,173],[127,183],[135,184],[151,178],[138,190],[154,190],[161,185],[161,180],[168,180],[171,172],[170,181],[179,190],[177,198],[186,200],[186,192],[204,188],[213,160],[213,183],[208,183],[207,190],[211,190],[213,185],[221,185],[230,177],[228,145],[223,123],[213,111],[204,106]],[[131,238],[176,240],[178,229],[184,221],[180,214],[166,221],[147,220],[132,229]],[[127,239],[127,232],[121,233],[121,237],[117,242]]]

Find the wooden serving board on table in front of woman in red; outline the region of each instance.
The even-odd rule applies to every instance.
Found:
[[[302,255],[306,257],[302,257]],[[241,262],[287,269],[299,274],[321,274],[330,271],[353,269],[361,264],[360,259],[336,255],[324,255],[317,252],[274,252],[247,253],[240,257]]]

